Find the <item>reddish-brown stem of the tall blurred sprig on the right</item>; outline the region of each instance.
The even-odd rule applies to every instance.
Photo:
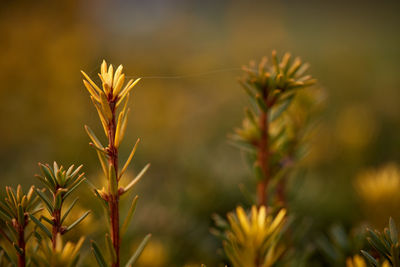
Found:
[[[263,100],[267,103],[267,95],[266,92],[264,94]],[[269,107],[269,105],[267,105]],[[258,126],[261,132],[261,138],[258,142],[258,151],[257,151],[257,161],[256,164],[261,168],[261,172],[263,174],[262,180],[258,181],[257,184],[257,202],[258,205],[266,205],[267,204],[267,188],[269,183],[269,123],[268,123],[268,111],[261,111]]]

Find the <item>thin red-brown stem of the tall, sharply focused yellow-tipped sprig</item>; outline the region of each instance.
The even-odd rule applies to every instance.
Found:
[[[112,92],[112,90],[111,90]],[[108,102],[112,111],[112,119],[109,121],[108,127],[108,161],[111,164],[112,168],[115,171],[115,177],[117,179],[117,188],[118,188],[118,149],[115,147],[115,133],[116,133],[116,123],[115,123],[115,100],[112,100],[112,93],[108,97]],[[111,177],[109,177],[111,179]],[[115,262],[112,263],[112,267],[119,267],[120,255],[120,234],[119,234],[119,192],[113,192],[111,190],[111,183],[109,181],[109,192],[110,198],[108,200],[109,208],[110,208],[110,223],[111,223],[111,241],[115,250],[116,259]]]

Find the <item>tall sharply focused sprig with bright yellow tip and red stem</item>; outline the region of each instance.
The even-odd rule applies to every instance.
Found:
[[[122,228],[120,229],[120,196],[130,191],[137,182],[139,182],[150,166],[147,164],[130,183],[121,186],[120,180],[127,170],[129,163],[133,159],[139,143],[138,139],[132,148],[128,159],[124,163],[123,167],[120,168],[118,149],[126,132],[129,114],[129,96],[132,88],[140,81],[140,78],[130,80],[124,86],[125,74],[122,73],[122,69],[123,67],[120,65],[114,72],[113,66],[107,66],[107,63],[103,61],[99,73],[102,86],[97,86],[96,83],[82,71],[82,74],[85,77],[83,83],[97,110],[103,126],[104,134],[108,141],[108,144],[103,146],[102,142],[97,138],[94,132],[88,126],[85,126],[86,132],[92,141],[90,145],[95,148],[101,168],[108,181],[107,188],[94,188],[94,193],[104,204],[110,219],[110,233],[105,237],[109,259],[107,260],[103,257],[103,253],[94,241],[92,241],[92,251],[100,266],[111,265],[112,267],[120,266],[121,235],[123,235],[128,228],[137,201],[137,197],[133,198],[131,208],[129,209],[126,219],[122,223]],[[120,110],[118,114],[117,110]],[[141,251],[149,241],[149,238],[150,235],[147,235],[143,239],[137,251],[133,253],[126,266],[131,266],[135,263],[137,258],[140,256]]]

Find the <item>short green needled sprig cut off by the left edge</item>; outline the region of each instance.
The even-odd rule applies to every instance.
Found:
[[[6,197],[0,200],[0,219],[6,226],[0,229],[0,234],[6,240],[4,247],[0,246],[0,264],[8,263],[11,266],[27,266],[26,247],[30,241],[34,228],[31,219],[40,212],[39,197],[34,194],[35,187],[31,186],[28,193],[22,191],[21,185],[17,190],[6,186]],[[17,255],[17,260],[13,255]]]

